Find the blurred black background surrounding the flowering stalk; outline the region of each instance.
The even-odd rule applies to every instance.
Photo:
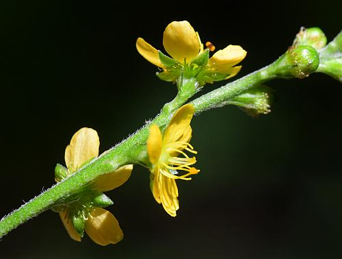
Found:
[[[301,26],[321,27],[328,40],[341,29],[339,1],[1,1],[0,14],[0,217],[54,184],[79,128],[97,130],[102,152],[174,97],[137,53],[138,36],[163,49],[166,25],[187,20],[203,42],[248,51],[239,78],[284,53]],[[271,114],[224,107],[193,119],[201,173],[178,181],[176,218],[136,166],[108,193],[120,243],[77,243],[48,211],[5,236],[0,257],[341,258],[341,84],[317,73],[268,85]]]

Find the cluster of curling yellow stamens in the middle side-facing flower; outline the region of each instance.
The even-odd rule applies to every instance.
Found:
[[[191,180],[192,178],[188,176],[195,175],[200,171],[195,167],[191,167],[192,164],[196,163],[196,158],[194,156],[189,158],[183,150],[197,153],[192,145],[181,141],[169,143],[163,147],[161,151],[163,155],[159,159],[159,171],[163,175],[173,179]],[[180,155],[183,157],[179,158]],[[185,171],[186,173],[177,175],[178,171]]]

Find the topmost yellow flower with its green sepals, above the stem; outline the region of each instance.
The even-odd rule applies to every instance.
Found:
[[[241,66],[235,65],[246,57],[246,51],[240,46],[228,45],[209,58],[209,51],[214,51],[215,46],[207,42],[207,49],[203,49],[198,32],[187,21],[173,21],[166,27],[163,46],[172,58],[143,38],[137,38],[136,42],[137,51],[146,60],[163,69],[163,72],[157,73],[159,78],[172,82],[179,77],[182,68],[183,73],[188,73],[189,77],[197,77],[200,84],[233,77],[241,69]]]

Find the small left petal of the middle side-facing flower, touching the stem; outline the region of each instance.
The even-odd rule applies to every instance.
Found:
[[[150,126],[150,134],[147,139],[147,153],[148,158],[152,164],[157,164],[163,145],[163,138],[159,127],[155,124]]]

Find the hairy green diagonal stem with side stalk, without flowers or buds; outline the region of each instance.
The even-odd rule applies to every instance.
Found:
[[[289,66],[285,63],[287,62],[284,61],[282,56],[278,61],[259,71],[237,79],[235,82],[226,84],[221,88],[211,91],[211,93],[202,95],[202,97],[192,101],[196,113],[199,114],[204,110],[227,105],[230,99],[233,99],[233,97],[245,90],[266,82],[269,79],[282,77],[284,70]],[[289,68],[291,69],[291,66]],[[44,193],[31,199],[27,204],[21,206],[21,208],[18,208],[18,210],[4,217],[0,221],[0,238],[8,234],[11,230],[14,230],[18,225],[60,204],[64,199],[76,195],[81,191],[83,186],[90,184],[99,175],[115,171],[124,164],[148,163],[146,139],[148,138],[149,125],[155,123],[161,128],[166,127],[170,122],[172,114],[198,91],[198,82],[195,78],[182,77],[179,84],[184,89],[183,92],[179,92],[174,100],[166,103],[153,121],[146,123],[141,130],[135,132],[135,134],[116,145],[116,147],[105,151],[101,156],[92,160],[85,167],[66,178],[66,180],[52,186]]]

